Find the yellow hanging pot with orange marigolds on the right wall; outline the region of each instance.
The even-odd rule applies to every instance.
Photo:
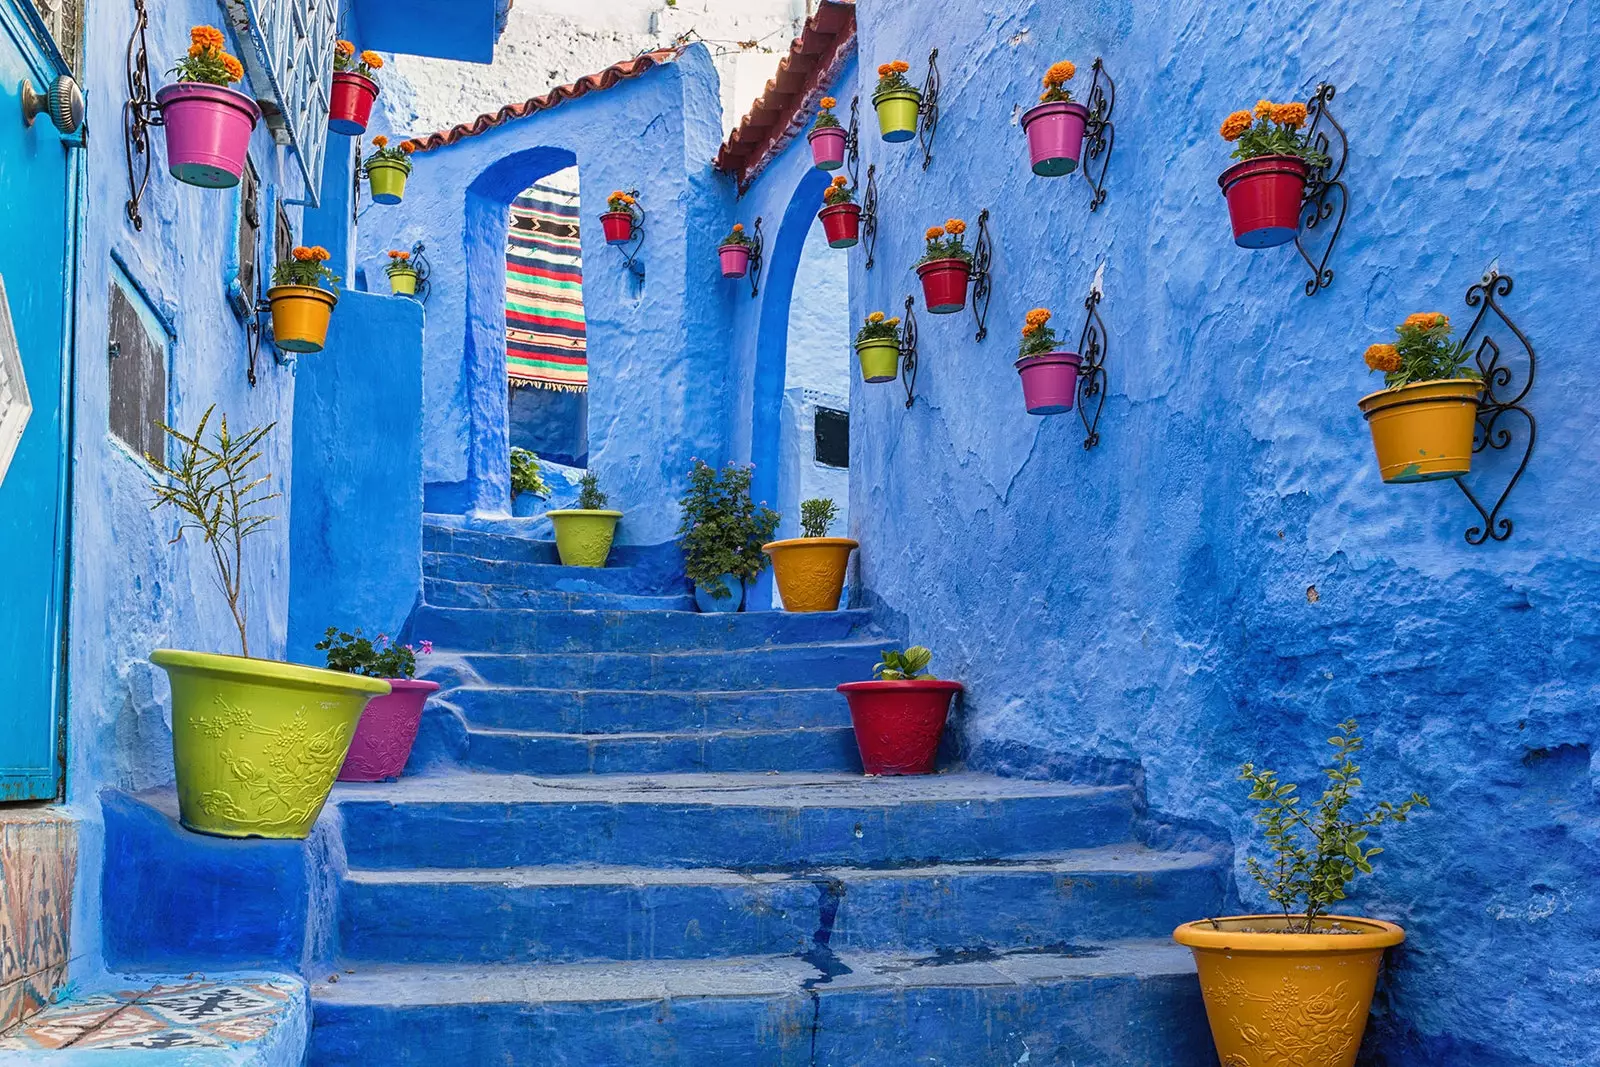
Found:
[[[1384,482],[1435,482],[1472,469],[1472,435],[1483,381],[1450,318],[1419,312],[1395,326],[1398,342],[1366,349],[1384,389],[1362,397]]]

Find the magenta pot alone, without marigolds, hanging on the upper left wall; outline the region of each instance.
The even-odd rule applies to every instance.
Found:
[[[166,128],[166,170],[186,186],[232,189],[245,173],[256,101],[226,85],[179,82],[155,94]]]

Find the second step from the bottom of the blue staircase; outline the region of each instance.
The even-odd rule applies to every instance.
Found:
[[[835,950],[1043,947],[1162,937],[1224,907],[1213,853],[1134,845],[998,864],[798,873],[517,867],[357,870],[341,952],[397,963],[698,960]],[[454,917],[440,923],[440,915]]]

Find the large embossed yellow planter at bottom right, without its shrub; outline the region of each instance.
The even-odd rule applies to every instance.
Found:
[[[1384,949],[1405,931],[1347,915],[1317,929],[1352,933],[1270,933],[1283,928],[1283,915],[1235,915],[1173,931],[1195,953],[1222,1067],[1352,1067]]]

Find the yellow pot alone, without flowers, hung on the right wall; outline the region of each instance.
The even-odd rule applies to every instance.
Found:
[[[1450,378],[1362,397],[1384,482],[1435,482],[1472,469],[1472,430],[1483,382]]]

